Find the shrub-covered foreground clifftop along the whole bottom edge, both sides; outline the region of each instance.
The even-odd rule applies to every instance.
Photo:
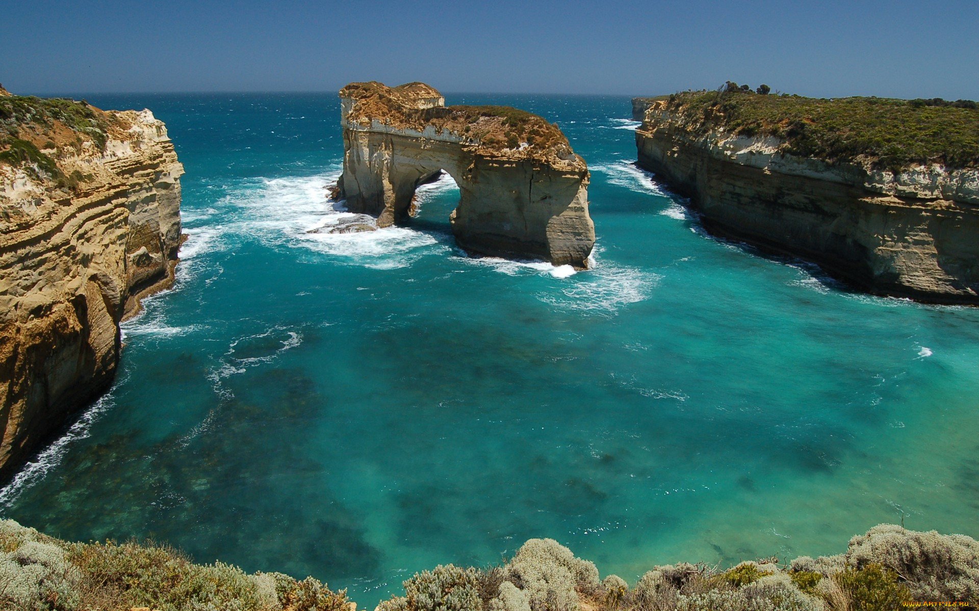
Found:
[[[845,553],[723,569],[657,566],[633,587],[550,539],[489,568],[416,573],[377,611],[896,611],[979,601],[979,543],[876,526]],[[166,546],[70,544],[0,520],[0,608],[32,611],[355,611],[344,591],[281,573],[193,564]]]

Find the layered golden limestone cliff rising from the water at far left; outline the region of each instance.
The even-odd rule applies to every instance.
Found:
[[[172,282],[177,161],[150,110],[0,98],[0,477],[107,389],[119,322]]]

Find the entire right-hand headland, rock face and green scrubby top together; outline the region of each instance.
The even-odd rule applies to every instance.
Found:
[[[684,92],[636,100],[638,164],[705,228],[869,292],[979,303],[979,109]]]

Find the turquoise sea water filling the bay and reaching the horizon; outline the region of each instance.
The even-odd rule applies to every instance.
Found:
[[[332,95],[88,96],[187,168],[178,283],[113,391],[2,492],[70,540],[152,537],[371,606],[553,537],[657,563],[837,552],[879,522],[979,535],[979,310],[853,293],[704,235],[634,159],[629,100],[449,96],[557,121],[592,271],[474,259],[450,181],[410,226],[339,214]]]

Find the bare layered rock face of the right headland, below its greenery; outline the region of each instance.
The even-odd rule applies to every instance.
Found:
[[[979,171],[785,153],[774,137],[705,133],[654,101],[638,164],[690,197],[711,232],[810,259],[870,292],[979,303]]]

